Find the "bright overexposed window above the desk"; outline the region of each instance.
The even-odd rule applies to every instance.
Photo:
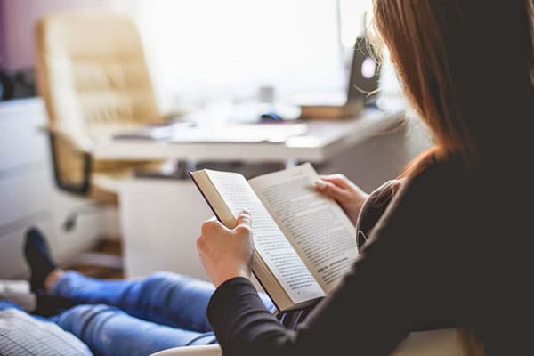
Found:
[[[344,88],[336,0],[138,0],[135,13],[164,100]]]

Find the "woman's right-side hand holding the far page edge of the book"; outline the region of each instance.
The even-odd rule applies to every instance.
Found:
[[[321,175],[315,182],[315,189],[328,198],[334,198],[356,225],[361,206],[368,198],[368,194],[361,190],[343,174]]]

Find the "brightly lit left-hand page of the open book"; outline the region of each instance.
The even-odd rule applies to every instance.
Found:
[[[293,302],[301,303],[324,296],[311,271],[296,254],[245,177],[226,172],[208,170],[206,172],[234,216],[244,208],[254,216],[252,231],[255,249],[279,279]]]

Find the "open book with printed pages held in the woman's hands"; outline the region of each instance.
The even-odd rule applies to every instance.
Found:
[[[312,165],[263,174],[190,172],[219,221],[232,229],[247,208],[255,253],[252,271],[279,311],[300,309],[336,287],[356,257],[355,229],[337,203],[313,188]]]

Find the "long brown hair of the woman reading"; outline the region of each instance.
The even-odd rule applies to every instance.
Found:
[[[436,142],[426,156],[510,153],[534,119],[532,0],[374,4],[376,32]]]

